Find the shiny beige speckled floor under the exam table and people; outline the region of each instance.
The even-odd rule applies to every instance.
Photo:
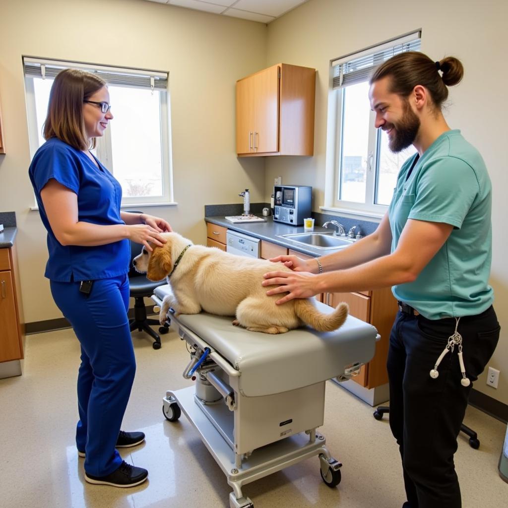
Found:
[[[24,373],[0,379],[0,506],[6,508],[187,508],[229,507],[226,477],[182,415],[170,423],[162,414],[166,390],[190,384],[188,363],[176,333],[154,351],[143,333],[133,334],[138,369],[124,430],[142,430],[146,442],[121,451],[145,467],[149,480],[131,489],[89,485],[74,443],[79,346],[72,330],[30,335]],[[508,484],[497,463],[506,426],[468,408],[465,423],[479,434],[473,450],[460,437],[455,461],[463,507],[508,506]],[[334,383],[326,388],[325,425],[320,429],[332,455],[343,463],[336,489],[321,480],[311,458],[243,487],[256,508],[399,508],[404,490],[396,444],[387,419]]]

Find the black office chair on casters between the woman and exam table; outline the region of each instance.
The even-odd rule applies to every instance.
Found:
[[[131,211],[131,213],[141,213],[136,211]],[[161,284],[165,284],[166,280],[161,280],[158,282],[152,282],[146,278],[144,273],[139,273],[134,269],[134,265],[132,263],[133,259],[141,253],[141,249],[143,245],[140,243],[135,243],[131,241],[131,264],[129,266],[129,284],[131,287],[130,294],[131,297],[134,298],[134,319],[129,321],[129,326],[131,328],[131,332],[134,330],[145,331],[151,337],[153,337],[154,342],[152,347],[156,349],[161,348],[161,337],[155,333],[150,325],[160,325],[158,319],[149,319],[146,316],[146,307],[143,298],[149,298],[153,294],[153,290],[160,286]],[[160,327],[159,333],[168,333],[167,327]]]

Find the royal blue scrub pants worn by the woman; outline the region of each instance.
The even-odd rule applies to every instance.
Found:
[[[129,278],[94,280],[88,296],[79,292],[80,282],[50,283],[81,344],[76,445],[86,453],[85,471],[105,476],[122,463],[115,444],[136,372],[127,317]]]

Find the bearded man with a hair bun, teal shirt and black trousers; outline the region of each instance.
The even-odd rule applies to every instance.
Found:
[[[265,274],[277,301],[392,286],[399,312],[390,335],[390,427],[402,457],[403,508],[460,508],[453,462],[474,382],[492,356],[499,324],[488,284],[491,183],[478,150],[441,112],[461,62],[420,52],[394,56],[370,80],[375,126],[390,149],[413,145],[388,213],[374,233],[337,253],[279,256],[292,272]],[[328,273],[324,273],[328,272]]]

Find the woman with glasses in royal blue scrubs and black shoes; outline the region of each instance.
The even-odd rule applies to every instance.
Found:
[[[120,211],[120,184],[89,151],[112,118],[105,81],[60,72],[44,124],[47,141],[29,176],[48,232],[45,276],[81,344],[76,445],[85,457],[85,480],[133,487],[148,471],[116,451],[145,438],[120,431],[136,371],[127,317],[130,240],[152,250],[150,243],[163,245],[161,233],[171,227],[158,217]]]

